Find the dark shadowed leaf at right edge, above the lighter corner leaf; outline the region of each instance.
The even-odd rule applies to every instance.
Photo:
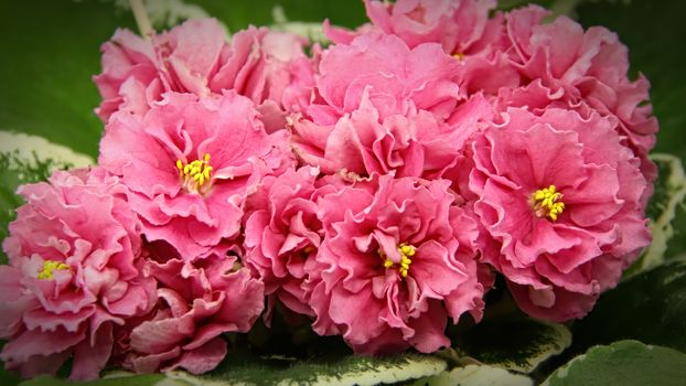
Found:
[[[622,339],[686,351],[686,261],[666,262],[621,282],[572,332],[576,353]]]

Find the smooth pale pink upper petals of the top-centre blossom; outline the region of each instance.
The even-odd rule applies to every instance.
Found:
[[[331,125],[354,111],[368,92],[382,118],[416,109],[444,118],[458,103],[458,86],[450,79],[457,66],[438,44],[410,50],[396,36],[367,33],[322,53],[315,84],[320,98],[307,116]]]

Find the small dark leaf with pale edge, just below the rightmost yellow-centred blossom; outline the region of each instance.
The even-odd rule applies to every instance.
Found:
[[[530,373],[553,355],[571,344],[571,334],[562,324],[533,319],[500,318],[485,320],[457,339],[461,355],[505,369]]]

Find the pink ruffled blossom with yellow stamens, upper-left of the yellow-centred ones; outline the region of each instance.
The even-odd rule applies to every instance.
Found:
[[[170,93],[143,117],[114,116],[99,163],[131,191],[148,240],[195,258],[236,236],[250,186],[291,162],[282,133],[268,136],[253,103],[233,92]]]

